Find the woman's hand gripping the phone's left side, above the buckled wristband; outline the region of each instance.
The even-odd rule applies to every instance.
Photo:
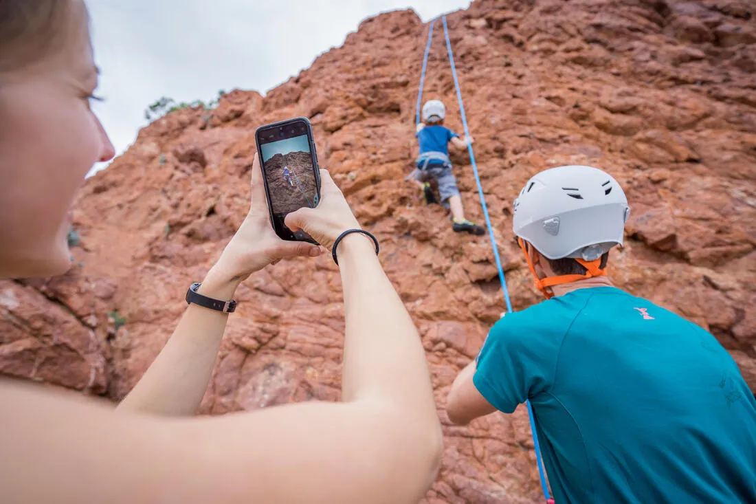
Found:
[[[278,238],[271,226],[268,201],[262,182],[260,161],[255,154],[252,166],[252,201],[239,230],[223,250],[213,270],[229,280],[244,280],[253,272],[287,257],[318,257],[321,248],[304,241]]]

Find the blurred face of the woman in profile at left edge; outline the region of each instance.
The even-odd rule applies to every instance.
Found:
[[[98,70],[86,24],[59,54],[0,75],[0,278],[69,269],[74,195],[114,155],[90,108]]]

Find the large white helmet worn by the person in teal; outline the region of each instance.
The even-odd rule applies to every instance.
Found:
[[[608,173],[559,166],[533,176],[514,203],[513,231],[549,259],[597,260],[624,238],[627,197]]]

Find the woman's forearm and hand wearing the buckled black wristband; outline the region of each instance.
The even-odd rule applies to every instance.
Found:
[[[204,296],[231,300],[245,278],[274,260],[314,257],[321,252],[312,244],[283,241],[271,228],[257,155],[252,168],[251,192],[246,219],[200,285],[198,292]],[[188,306],[166,346],[118,409],[193,415],[212,375],[229,316],[234,315],[195,304]]]

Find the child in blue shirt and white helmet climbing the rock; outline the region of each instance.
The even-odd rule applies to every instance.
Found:
[[[451,210],[451,229],[455,232],[469,232],[472,235],[483,235],[485,230],[465,219],[462,208],[460,190],[457,181],[451,173],[448,143],[454,147],[464,149],[472,144],[472,138],[460,138],[457,133],[443,126],[446,107],[440,100],[430,100],[423,105],[423,123],[417,125],[417,140],[420,143],[420,157],[417,158],[417,169],[412,173],[415,181],[423,191],[426,204],[435,203],[435,196],[429,181],[438,182],[438,192],[441,194],[442,205]]]

